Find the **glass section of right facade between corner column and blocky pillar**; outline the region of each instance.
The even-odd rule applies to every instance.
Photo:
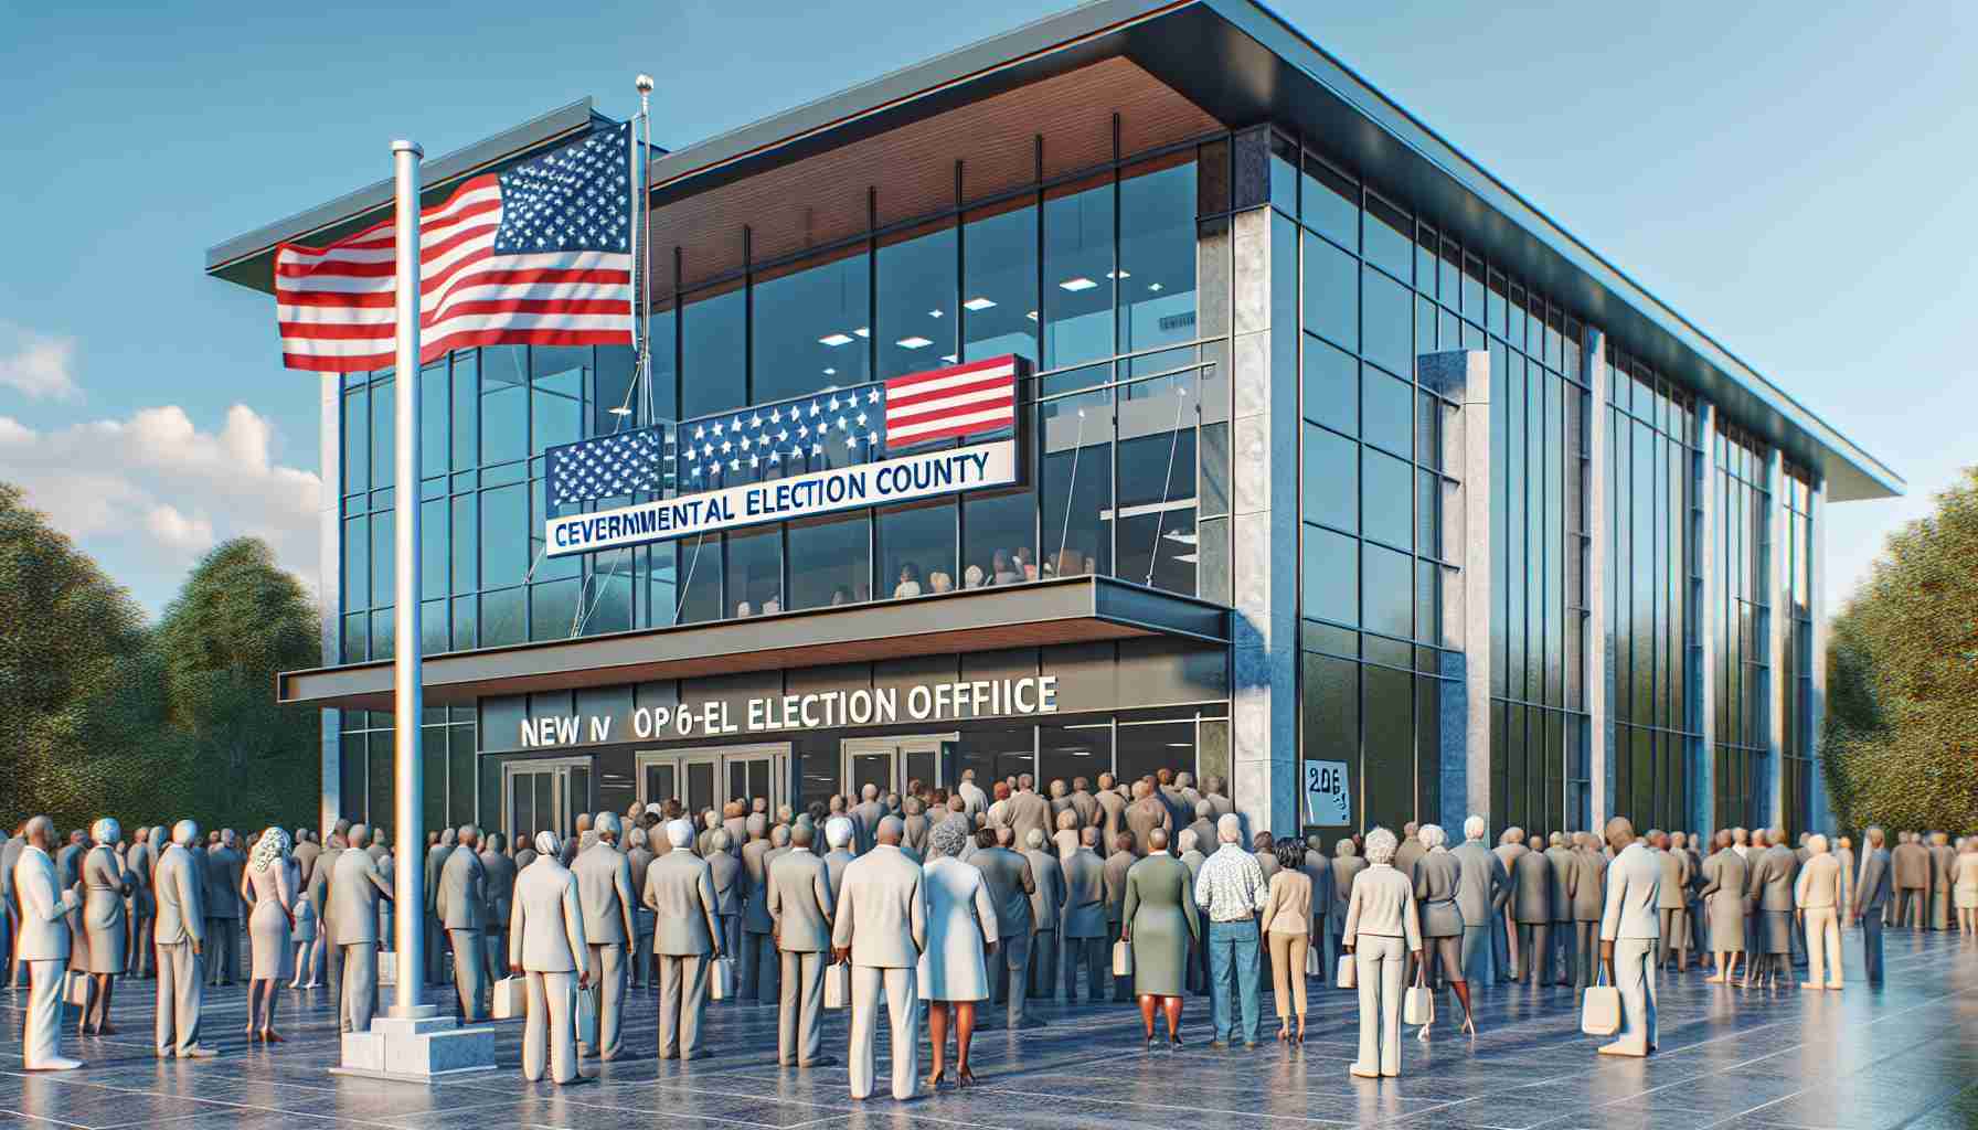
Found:
[[[1274,271],[1286,315],[1272,325],[1302,329],[1304,758],[1349,766],[1355,825],[1398,827],[1442,803],[1444,673],[1458,667],[1442,651],[1442,588],[1462,564],[1442,520],[1456,404],[1416,384],[1414,354],[1484,348],[1493,319],[1501,342],[1509,315],[1503,291],[1485,305],[1476,255],[1282,137],[1270,200],[1272,263],[1298,265]]]

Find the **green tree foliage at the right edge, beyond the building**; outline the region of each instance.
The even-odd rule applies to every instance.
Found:
[[[1978,827],[1978,469],[1834,619],[1822,748],[1845,825]]]

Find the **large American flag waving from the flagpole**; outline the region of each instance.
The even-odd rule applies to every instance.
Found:
[[[419,220],[421,360],[479,344],[631,344],[631,125],[463,182]],[[396,224],[275,251],[283,364],[394,362]]]

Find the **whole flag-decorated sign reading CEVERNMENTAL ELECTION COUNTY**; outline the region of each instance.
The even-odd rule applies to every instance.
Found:
[[[548,556],[908,503],[1017,483],[1017,441],[914,451],[1011,433],[1021,356],[817,392],[548,451],[550,511],[671,497],[544,522]]]

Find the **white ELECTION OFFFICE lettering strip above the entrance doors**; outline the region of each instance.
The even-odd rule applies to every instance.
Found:
[[[522,718],[520,748],[548,750],[631,740],[722,738],[773,730],[835,730],[1056,712],[1058,677],[1029,675],[1023,679],[916,683],[904,689],[858,687],[854,691],[771,695],[740,705],[710,699],[678,706],[639,706],[627,718],[625,728],[617,728],[619,718],[613,714],[548,714]]]

